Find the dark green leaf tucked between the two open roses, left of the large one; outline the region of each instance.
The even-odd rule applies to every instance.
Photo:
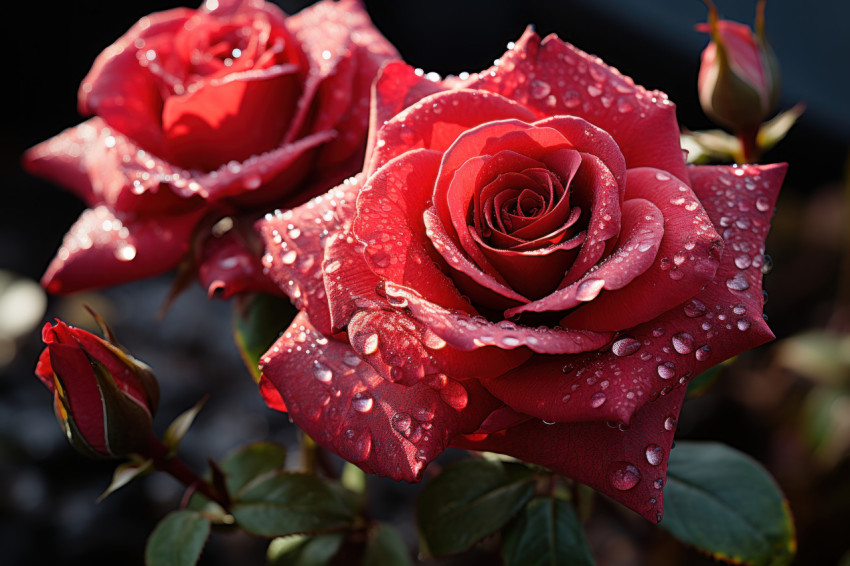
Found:
[[[234,301],[233,335],[242,360],[254,381],[260,381],[258,364],[298,311],[287,299],[256,293]]]

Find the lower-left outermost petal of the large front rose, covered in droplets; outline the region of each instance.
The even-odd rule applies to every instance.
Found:
[[[303,313],[262,363],[264,390],[280,392],[299,428],[367,473],[396,480],[418,481],[456,435],[498,406],[475,381],[448,380],[441,389],[390,383]]]

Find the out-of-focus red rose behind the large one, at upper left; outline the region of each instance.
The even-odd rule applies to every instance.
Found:
[[[162,273],[219,218],[356,172],[372,80],[396,57],[358,0],[291,17],[262,0],[208,0],[142,18],[83,80],[80,111],[96,117],[25,156],[90,207],[44,285],[68,293]],[[223,255],[241,243],[226,240],[201,252],[211,291],[261,274],[259,259]]]

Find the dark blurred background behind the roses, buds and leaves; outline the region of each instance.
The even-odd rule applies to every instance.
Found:
[[[309,3],[279,2],[288,13]],[[752,22],[754,1],[718,3],[730,19]],[[712,127],[696,96],[699,54],[707,41],[693,31],[694,24],[706,18],[705,7],[696,0],[365,4],[405,60],[425,71],[482,70],[532,23],[541,35],[557,32],[639,84],[667,92],[683,125]],[[161,1],[28,2],[19,5],[23,15],[4,18],[0,269],[37,280],[84,208],[59,188],[22,172],[21,153],[81,120],[77,87],[100,51],[140,17],[175,6]],[[767,29],[783,71],[780,106],[801,100],[808,104],[788,138],[766,156],[767,161],[790,164],[768,241],[776,267],[765,282],[770,294],[766,312],[780,339],[806,329],[847,330],[846,311],[836,295],[848,285],[841,275],[841,262],[848,255],[841,184],[850,141],[850,36],[843,29],[848,12],[838,0],[807,2],[804,7],[790,0],[772,1],[767,7]],[[99,310],[119,339],[157,371],[164,400],[156,422],[159,430],[211,391],[184,450],[197,469],[203,469],[207,455],[220,457],[247,440],[272,438],[294,446],[295,431],[286,416],[265,407],[241,365],[230,335],[229,305],[207,302],[194,289],[179,298],[163,320],[156,320],[169,281],[163,277],[102,293],[50,298],[45,320],[61,316],[83,325],[81,303]],[[170,478],[152,476],[94,503],[109,482],[112,466],[78,457],[62,438],[50,397],[32,377],[38,338],[34,330],[17,339],[14,356],[0,363],[0,562],[141,564],[145,537],[177,506],[181,489]],[[739,358],[715,390],[689,403],[679,435],[721,440],[764,462],[795,510],[798,563],[833,564],[848,548],[842,534],[850,523],[847,458],[828,469],[808,461],[805,443],[795,436],[799,426],[794,411],[795,399],[812,386],[777,367],[771,348]],[[399,521],[412,544],[418,487],[370,481],[376,516]],[[600,564],[704,560],[604,502],[588,533]],[[263,552],[263,545],[251,539],[218,535],[202,564],[259,564]],[[486,555],[479,558],[482,564],[492,563]]]

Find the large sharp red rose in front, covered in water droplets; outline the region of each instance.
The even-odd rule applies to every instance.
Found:
[[[465,81],[375,88],[363,174],[259,224],[301,310],[267,402],[372,473],[492,450],[659,520],[688,380],[772,338],[785,166],[688,167],[663,93],[531,31]]]

